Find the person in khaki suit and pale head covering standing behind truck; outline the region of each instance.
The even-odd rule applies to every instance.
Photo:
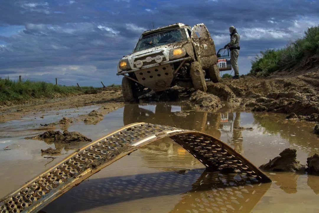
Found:
[[[230,32],[230,42],[225,45],[224,48],[229,48],[230,50],[230,62],[232,63],[235,75],[233,79],[239,79],[239,70],[238,70],[238,56],[239,56],[239,40],[240,35],[237,33],[237,30],[234,26],[229,27]]]

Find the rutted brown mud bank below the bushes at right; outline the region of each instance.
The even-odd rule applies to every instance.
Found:
[[[319,122],[319,68],[223,79],[246,110],[291,114],[292,119]],[[283,92],[285,91],[285,92]]]

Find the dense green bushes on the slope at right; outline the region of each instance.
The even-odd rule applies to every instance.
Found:
[[[290,68],[298,64],[303,57],[315,53],[319,53],[319,26],[309,27],[304,37],[282,49],[261,51],[251,62],[250,73],[267,76],[276,70]]]

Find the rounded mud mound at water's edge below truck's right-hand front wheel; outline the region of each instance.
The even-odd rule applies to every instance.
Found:
[[[222,107],[219,97],[200,90],[194,92],[189,101],[197,110],[214,111]]]

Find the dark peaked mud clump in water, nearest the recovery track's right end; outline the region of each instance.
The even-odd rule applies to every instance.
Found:
[[[259,168],[268,171],[300,171],[304,165],[296,160],[296,152],[296,149],[286,148],[280,152],[280,156],[269,160],[267,164],[263,164]]]

